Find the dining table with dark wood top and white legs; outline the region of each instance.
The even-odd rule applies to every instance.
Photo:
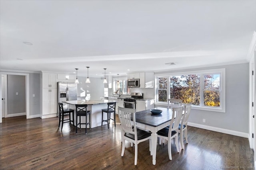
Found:
[[[164,107],[155,107],[154,109],[162,110],[160,114],[151,113],[150,109],[138,111],[135,113],[136,127],[151,131],[151,153],[152,163],[156,164],[156,146],[157,146],[157,132],[160,129],[170,125],[172,119],[172,109]],[[132,119],[132,117],[131,117]],[[133,119],[132,119],[133,120]]]

